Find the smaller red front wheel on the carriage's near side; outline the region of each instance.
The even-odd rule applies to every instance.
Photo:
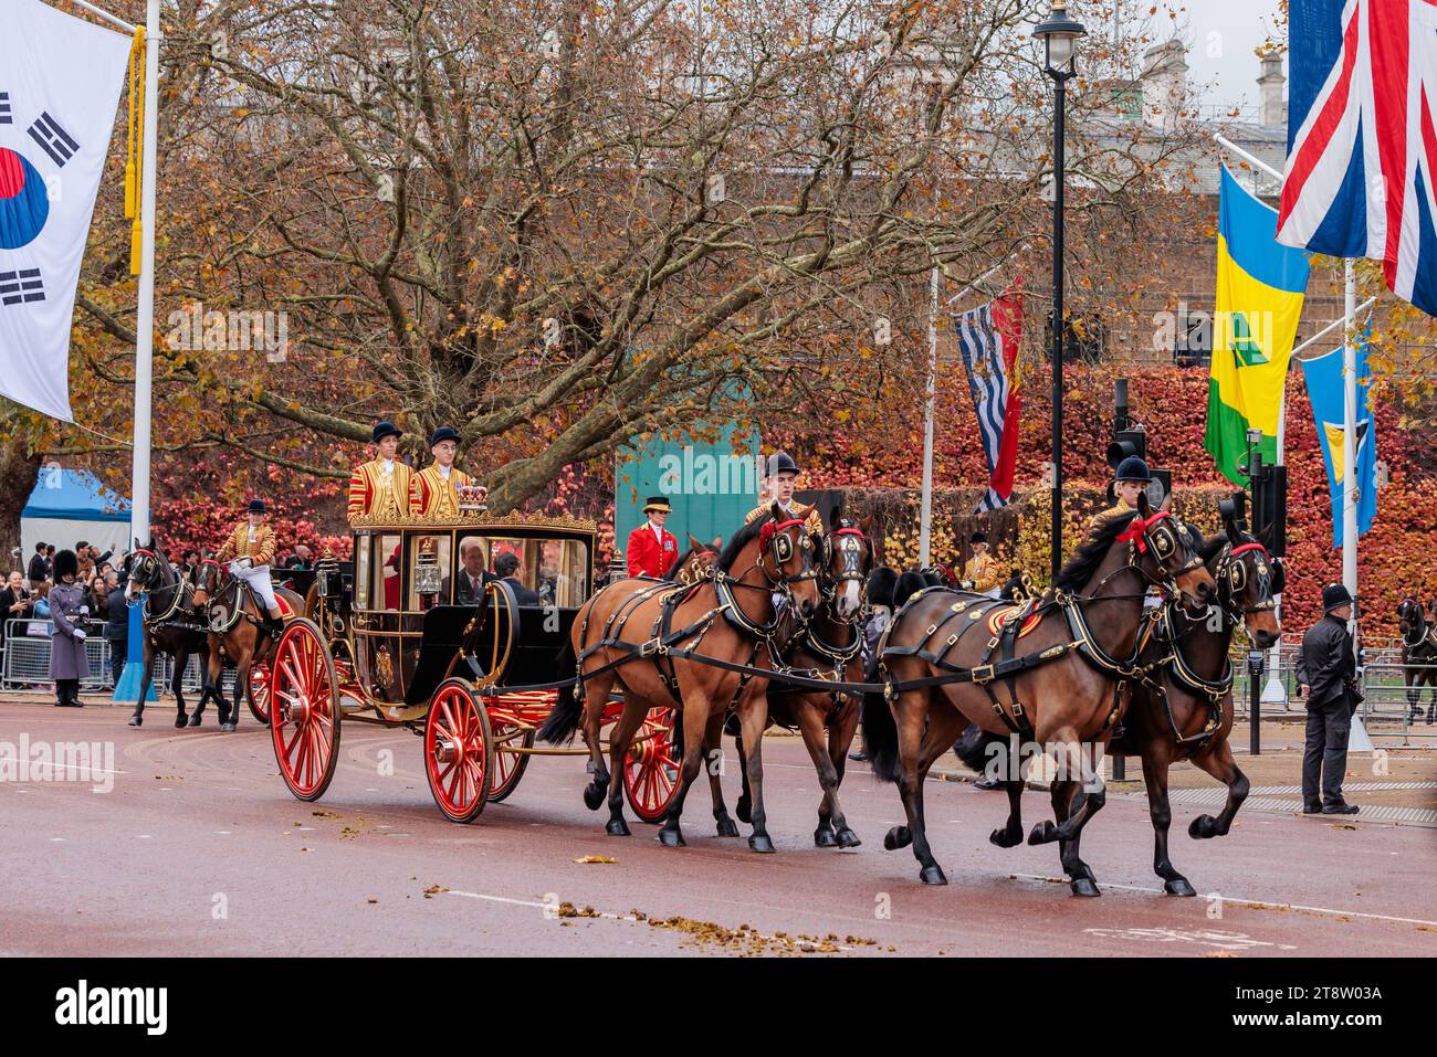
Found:
[[[484,810],[494,777],[494,737],[489,714],[464,679],[445,679],[430,698],[424,773],[450,821],[474,821]]]

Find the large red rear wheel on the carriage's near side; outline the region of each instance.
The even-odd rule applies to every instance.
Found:
[[[300,800],[319,800],[339,763],[339,694],[335,662],[309,620],[293,620],[274,646],[269,702],[285,784]]]

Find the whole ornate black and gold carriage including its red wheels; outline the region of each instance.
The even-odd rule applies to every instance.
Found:
[[[352,528],[354,562],[319,563],[267,674],[274,755],[296,797],[323,796],[351,721],[421,734],[434,801],[461,823],[510,796],[530,757],[585,754],[536,748],[535,732],[573,675],[559,659],[595,589],[593,523],[466,511]],[[605,721],[619,711],[611,702]],[[650,714],[624,771],[645,821],[678,788],[674,720]]]

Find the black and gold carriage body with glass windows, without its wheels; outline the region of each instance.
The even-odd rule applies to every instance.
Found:
[[[451,675],[497,688],[562,678],[595,543],[592,523],[568,518],[356,524],[345,590],[326,605],[352,705],[412,722]]]

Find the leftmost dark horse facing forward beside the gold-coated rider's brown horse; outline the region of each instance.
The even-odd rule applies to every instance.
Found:
[[[145,678],[139,701],[135,702],[135,714],[129,717],[131,727],[139,727],[145,721],[145,697],[149,694],[149,681],[155,674],[155,656],[168,653],[174,658],[174,678],[170,688],[175,695],[175,727],[198,727],[204,714],[204,702],[214,698],[220,712],[220,722],[228,721],[230,705],[220,692],[217,684],[211,684],[204,675],[204,689],[200,694],[200,704],[194,715],[185,715],[184,708],[184,672],[190,663],[190,655],[198,653],[201,658],[200,671],[205,672],[210,656],[210,638],[204,620],[194,609],[194,589],[188,580],[180,577],[170,567],[170,560],[164,551],[149,541],[148,547],[139,546],[135,540],[135,550],[129,556],[129,582],[125,586],[125,600],[135,602],[141,593],[145,595]],[[239,711],[239,704],[234,705]]]

